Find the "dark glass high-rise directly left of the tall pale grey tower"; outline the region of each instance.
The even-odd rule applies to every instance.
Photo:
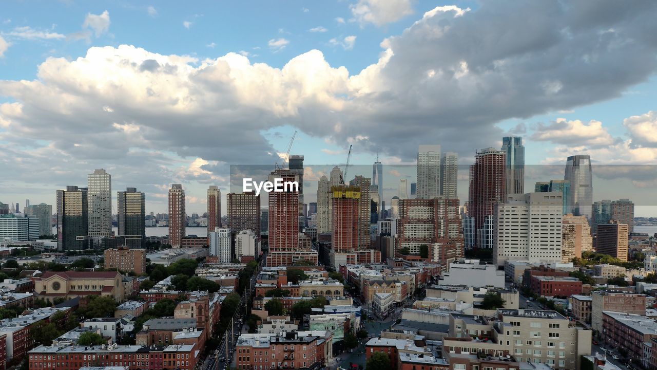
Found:
[[[66,186],[57,190],[57,249],[84,250],[89,244],[89,208],[87,188]],[[82,236],[78,240],[78,236]]]

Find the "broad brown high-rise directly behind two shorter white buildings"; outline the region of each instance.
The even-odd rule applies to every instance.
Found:
[[[256,192],[228,193],[226,201],[228,228],[233,233],[252,230],[260,240],[260,196]]]

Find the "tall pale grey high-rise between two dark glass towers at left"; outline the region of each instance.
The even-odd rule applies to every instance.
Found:
[[[97,169],[87,175],[89,236],[112,236],[112,175]]]

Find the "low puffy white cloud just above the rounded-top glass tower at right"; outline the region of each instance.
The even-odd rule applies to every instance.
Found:
[[[549,125],[538,124],[532,140],[553,142],[555,144],[572,144],[577,146],[604,146],[614,144],[614,138],[602,127],[599,120],[582,122],[581,120],[556,119]]]

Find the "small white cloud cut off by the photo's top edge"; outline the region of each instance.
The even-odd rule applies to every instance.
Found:
[[[382,26],[413,14],[411,0],[359,0],[350,9],[361,25],[372,23]]]

